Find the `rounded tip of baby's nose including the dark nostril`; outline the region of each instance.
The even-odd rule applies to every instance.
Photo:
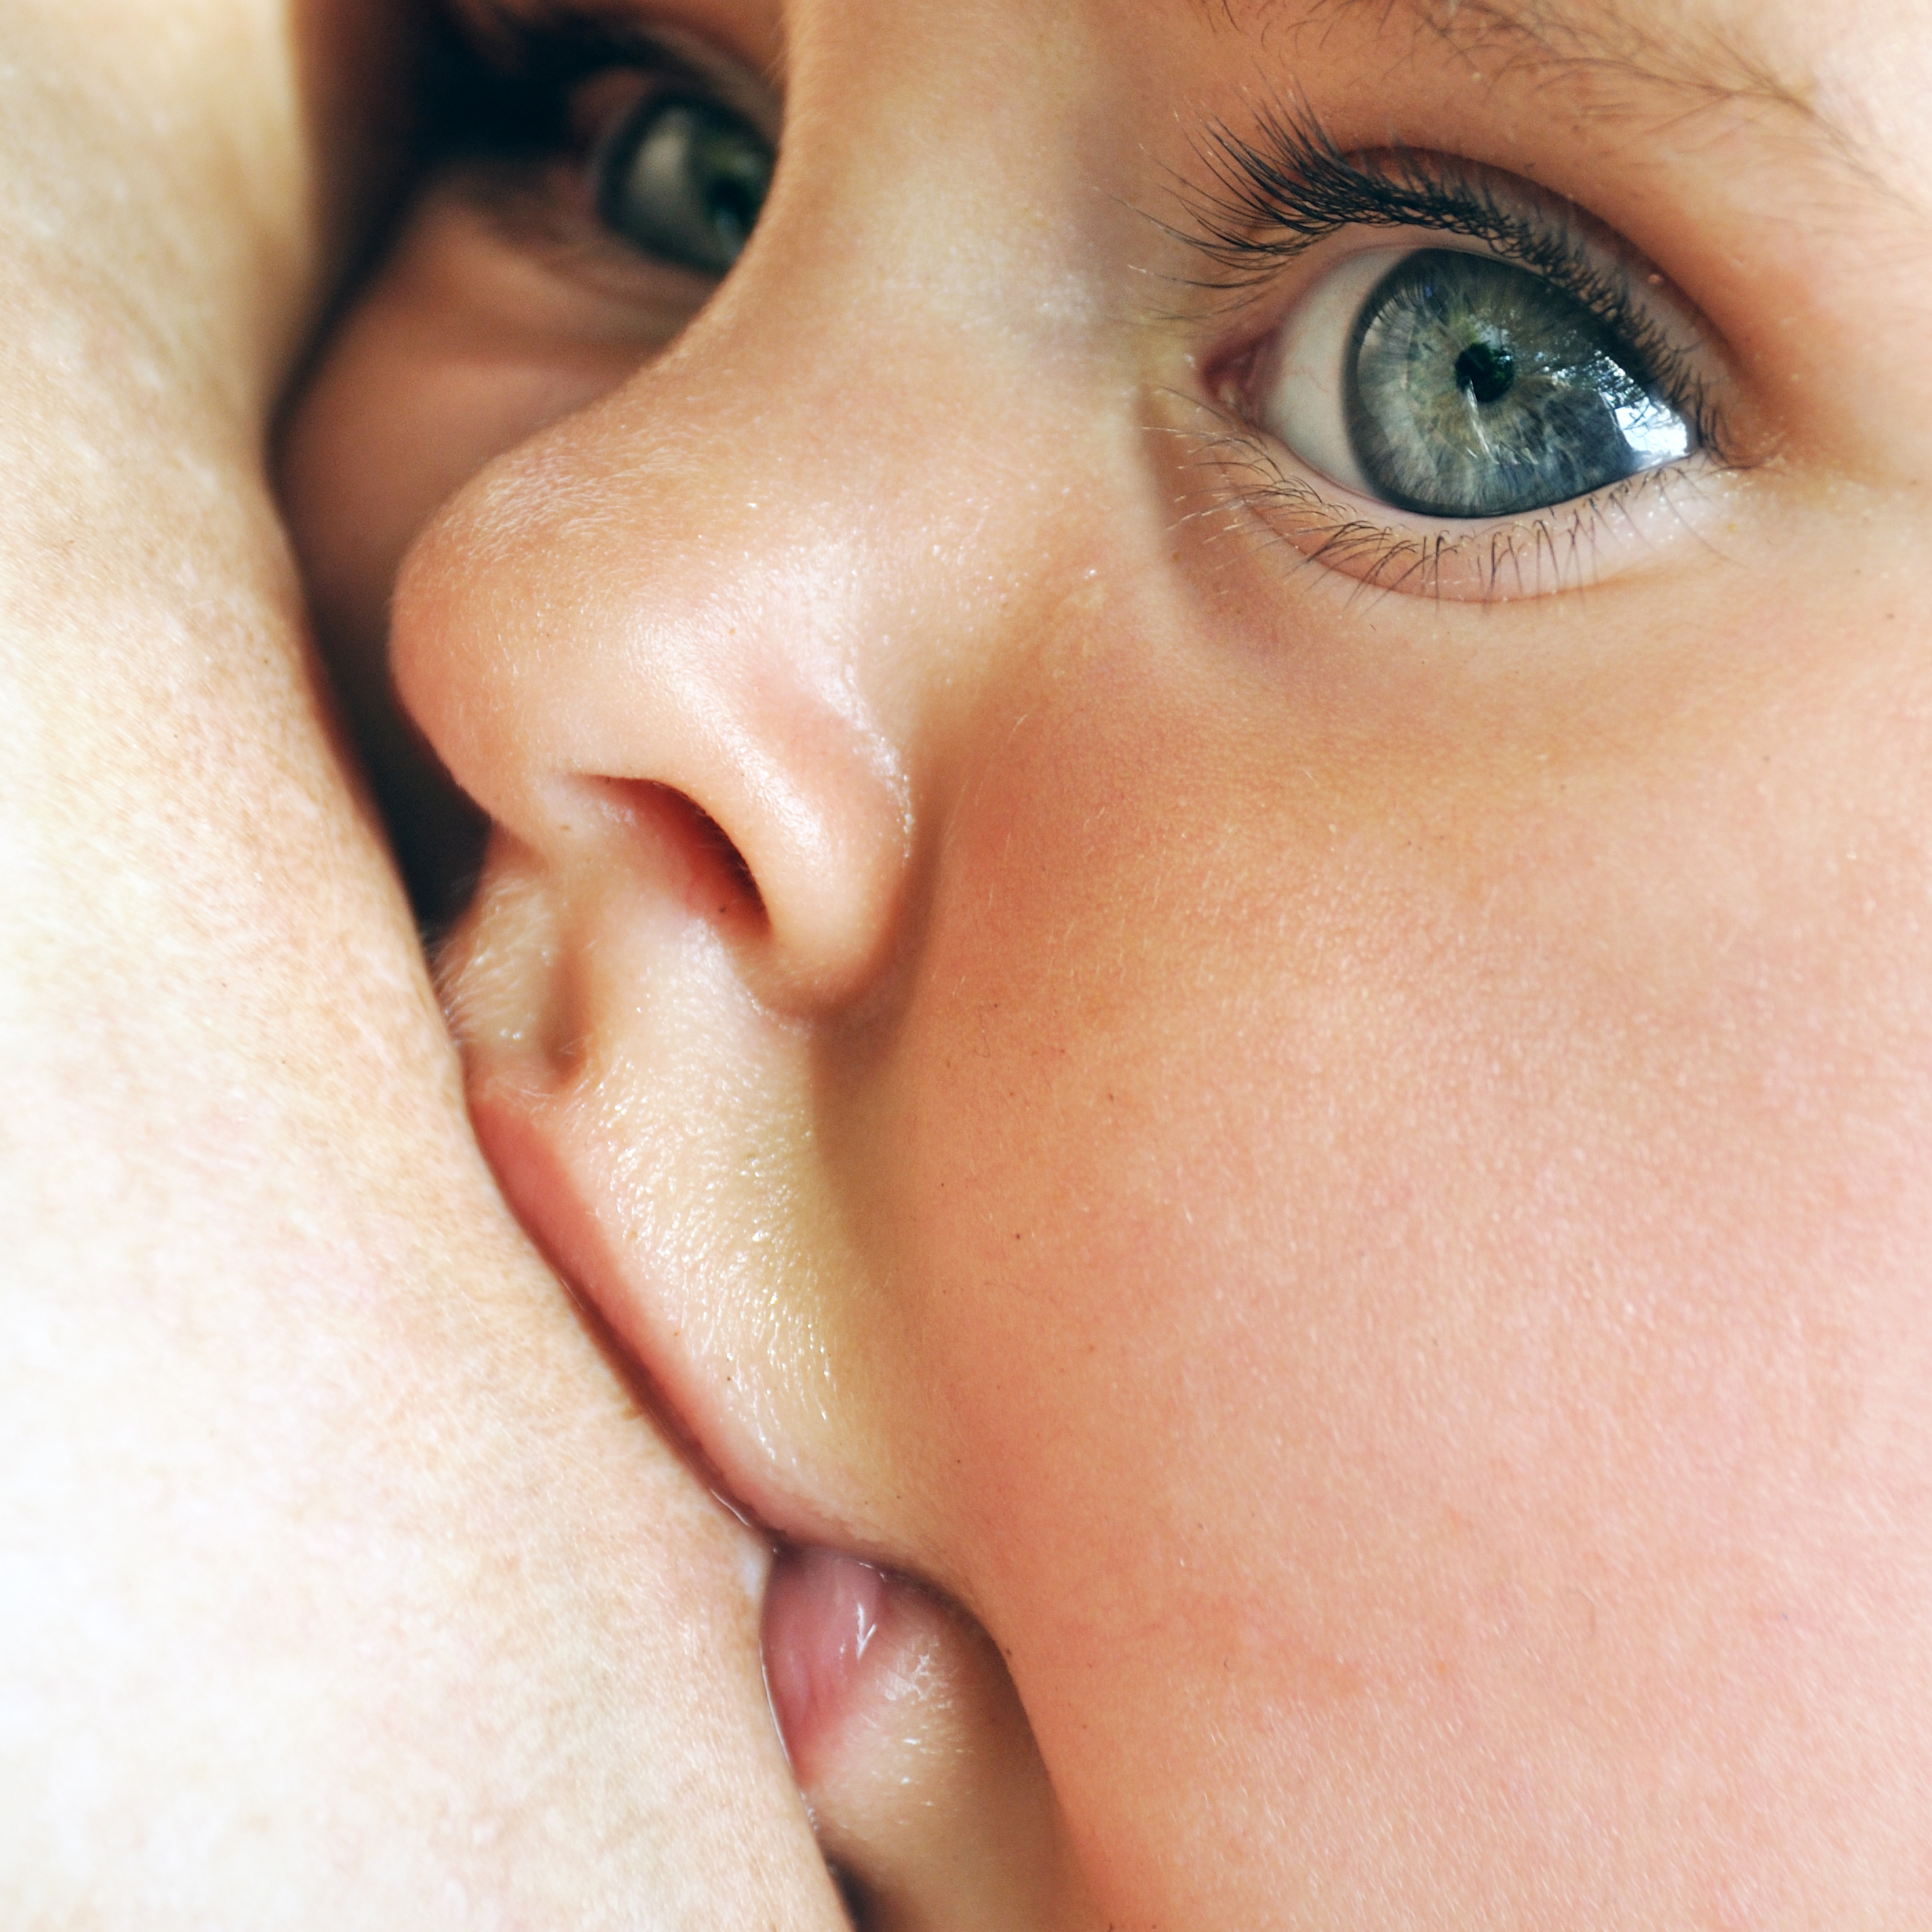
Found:
[[[655,867],[763,997],[850,1001],[891,951],[912,825],[844,539],[639,460],[634,421],[611,398],[558,425],[425,531],[396,587],[398,690],[522,844],[580,875]]]

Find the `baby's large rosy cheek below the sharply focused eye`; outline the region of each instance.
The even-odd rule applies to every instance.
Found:
[[[1296,817],[1109,667],[976,788],[895,1076],[908,1379],[1128,1891],[1175,1791],[1235,1862],[1403,1789],[1528,1870],[1671,1727],[1822,1789],[1920,1669],[1857,1526],[1924,1455],[1922,734],[1847,784],[1826,705],[1702,674],[1310,742]],[[1777,1704],[1799,1627],[1830,1690]]]

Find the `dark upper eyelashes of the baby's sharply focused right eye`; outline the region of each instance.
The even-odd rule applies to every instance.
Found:
[[[1269,108],[1252,135],[1219,124],[1200,149],[1209,187],[1186,191],[1182,232],[1208,274],[1246,294],[1343,228],[1434,228],[1484,242],[1563,290],[1631,357],[1631,373],[1681,410],[1704,448],[1721,423],[1710,386],[1629,280],[1586,247],[1577,224],[1447,156],[1345,153],[1306,110]]]

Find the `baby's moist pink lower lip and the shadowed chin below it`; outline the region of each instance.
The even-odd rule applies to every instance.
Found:
[[[765,1679],[862,1932],[1080,1932],[1045,1766],[985,1633],[831,1549],[779,1557]]]

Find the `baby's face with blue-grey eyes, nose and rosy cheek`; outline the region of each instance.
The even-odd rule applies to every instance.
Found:
[[[1922,1920],[1932,8],[462,19],[288,489],[479,1134],[1041,1915]]]

